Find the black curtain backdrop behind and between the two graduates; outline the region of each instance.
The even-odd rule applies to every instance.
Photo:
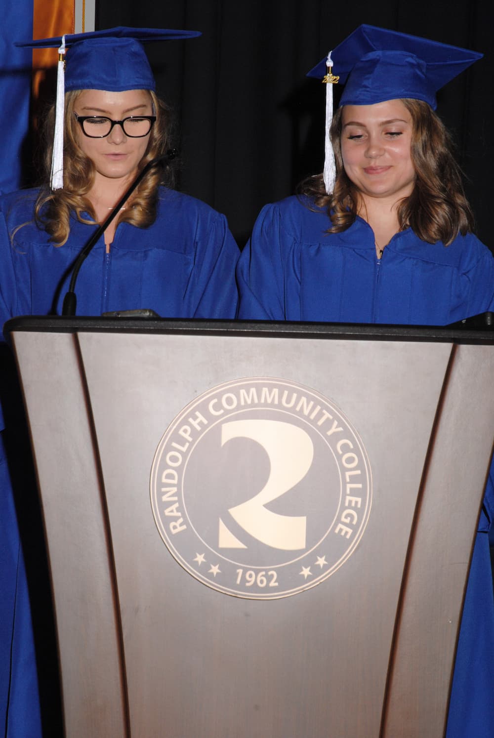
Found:
[[[481,240],[494,169],[493,0],[97,0],[97,28],[202,31],[147,44],[176,114],[178,188],[225,213],[243,246],[258,211],[323,165],[324,87],[306,72],[361,23],[484,52],[439,93]],[[337,69],[335,69],[337,74]]]

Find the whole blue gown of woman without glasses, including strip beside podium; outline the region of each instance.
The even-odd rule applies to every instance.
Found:
[[[306,199],[264,207],[237,267],[240,318],[446,325],[494,309],[494,259],[474,235],[445,248],[408,228],[378,260],[366,221],[357,218],[339,234],[327,234],[330,225],[326,211]],[[467,584],[447,738],[493,735],[493,519],[494,466]]]

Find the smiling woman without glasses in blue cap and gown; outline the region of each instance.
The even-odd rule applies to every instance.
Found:
[[[446,325],[490,308],[494,261],[433,112],[435,90],[479,57],[372,27],[332,52],[349,74],[331,128],[335,179],[261,211],[237,270],[239,317]]]

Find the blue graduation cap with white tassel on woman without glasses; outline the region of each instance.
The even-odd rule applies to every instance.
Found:
[[[437,90],[482,56],[458,46],[366,24],[354,30],[307,75],[329,83],[326,86],[326,191],[332,192],[335,184],[334,156],[329,140],[332,84],[345,85],[340,106],[374,105],[385,100],[411,98],[423,100],[435,110]]]

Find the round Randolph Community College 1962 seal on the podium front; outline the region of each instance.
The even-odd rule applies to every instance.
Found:
[[[351,556],[371,469],[348,419],[287,379],[207,390],[176,416],[151,469],[165,545],[200,582],[249,599],[320,584]]]

